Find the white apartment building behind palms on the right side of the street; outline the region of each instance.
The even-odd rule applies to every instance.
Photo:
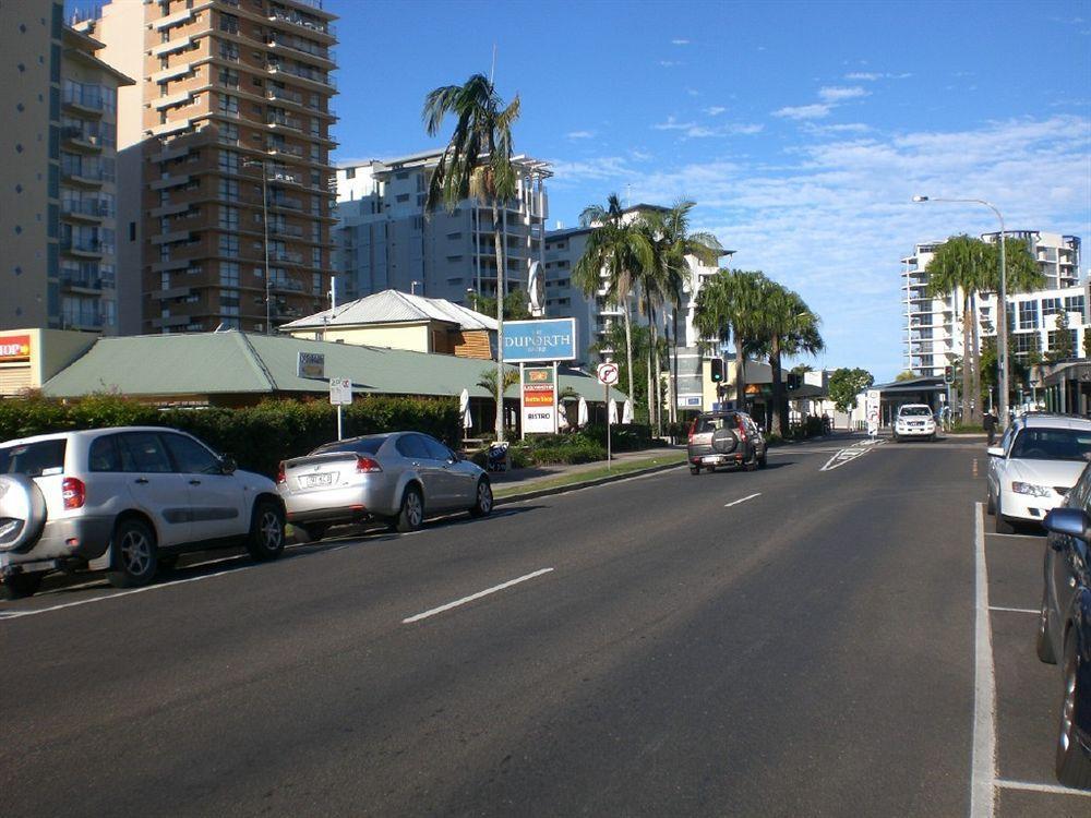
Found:
[[[1088,282],[1080,280],[1080,240],[1075,236],[1036,230],[1007,231],[1008,238],[1024,239],[1045,275],[1041,290],[1007,293],[1016,354],[1046,352],[1056,338],[1056,318],[1068,314],[1069,332],[1079,353],[1088,318]],[[995,242],[997,233],[985,233],[984,241]],[[944,366],[961,358],[962,294],[928,298],[926,267],[943,241],[916,244],[913,253],[901,260],[901,301],[904,311],[904,366],[921,375],[943,375]],[[996,335],[996,293],[982,293],[978,304],[980,336]]]

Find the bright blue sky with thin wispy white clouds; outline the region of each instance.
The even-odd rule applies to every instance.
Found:
[[[550,226],[613,191],[823,317],[814,365],[902,369],[899,258],[995,229],[1091,234],[1088,2],[363,2],[338,13],[336,159],[436,146],[424,94],[488,72],[554,164]],[[1084,246],[1091,257],[1091,246]],[[1084,263],[1084,268],[1087,264]]]

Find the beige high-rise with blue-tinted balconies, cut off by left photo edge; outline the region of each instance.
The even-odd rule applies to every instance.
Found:
[[[0,4],[0,329],[117,332],[117,92],[61,2]]]

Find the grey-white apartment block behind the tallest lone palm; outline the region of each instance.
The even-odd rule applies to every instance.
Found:
[[[424,200],[442,151],[373,160],[337,169],[338,300],[387,289],[458,304],[470,293],[496,294],[492,207],[464,200],[425,214]],[[512,159],[519,175],[515,199],[501,209],[506,292],[526,289],[533,262],[542,262],[549,199],[547,163]]]

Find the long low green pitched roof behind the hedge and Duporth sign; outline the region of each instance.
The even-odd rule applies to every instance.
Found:
[[[313,393],[329,390],[326,380],[299,377],[299,352],[325,356],[326,377],[348,377],[358,394],[471,397],[489,393],[477,382],[495,369],[494,361],[401,349],[307,340],[290,336],[224,333],[137,335],[99,338],[81,358],[43,386],[46,395],[79,397],[116,392],[142,397]],[[508,364],[508,369],[517,370]],[[560,386],[571,386],[590,401],[602,398],[602,385],[578,370],[562,369]],[[512,386],[507,397],[518,396]],[[612,398],[624,395],[611,390]]]

